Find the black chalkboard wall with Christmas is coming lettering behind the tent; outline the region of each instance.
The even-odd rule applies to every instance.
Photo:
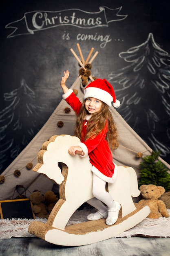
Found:
[[[113,85],[128,124],[170,163],[170,1],[5,1],[0,15],[0,173],[62,99],[60,79],[99,54],[92,75]]]

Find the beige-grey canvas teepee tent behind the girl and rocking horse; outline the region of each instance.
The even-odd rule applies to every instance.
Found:
[[[77,77],[72,89],[78,91],[77,97],[83,100],[83,87],[81,77]],[[28,170],[26,165],[32,163],[33,167],[37,164],[37,155],[45,141],[53,135],[68,134],[73,135],[74,125],[75,125],[75,113],[71,109],[71,112],[64,113],[64,109],[69,107],[66,101],[63,99],[57,106],[57,108],[49,117],[48,121],[37,135],[31,140],[31,142],[22,150],[22,152],[15,158],[15,160],[7,167],[7,169],[1,174],[5,177],[5,182],[0,184],[0,200],[7,200],[15,198],[18,193],[15,190],[17,185],[24,186],[26,188],[26,196],[29,197],[35,189],[45,193],[48,190],[53,189],[53,182],[49,180],[42,174],[33,172],[32,169]],[[70,107],[69,107],[70,108]],[[117,124],[119,131],[119,148],[113,152],[113,159],[117,165],[131,166],[136,172],[137,176],[139,174],[139,163],[141,159],[136,157],[136,154],[141,152],[144,155],[150,155],[152,149],[145,143],[139,135],[124,121],[124,119],[119,115],[116,109],[110,107],[110,111],[113,118]],[[64,126],[59,128],[57,123],[62,121]],[[161,159],[161,158],[160,158]],[[169,169],[170,165],[161,159]],[[14,171],[18,169],[21,172],[19,177],[14,176]],[[14,193],[15,192],[15,193]]]

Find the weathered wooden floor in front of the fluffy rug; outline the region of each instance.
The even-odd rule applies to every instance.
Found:
[[[110,238],[79,247],[62,247],[40,238],[0,240],[0,256],[170,256],[170,238]]]

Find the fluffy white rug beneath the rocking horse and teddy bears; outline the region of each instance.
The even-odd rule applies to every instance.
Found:
[[[83,210],[77,210],[68,221],[67,225],[86,222],[86,216],[93,212],[94,209],[84,207]],[[170,209],[168,209],[170,213]],[[28,233],[28,227],[32,221],[40,221],[46,223],[46,219],[36,218],[28,219],[3,219],[0,220],[0,240],[9,239],[11,237],[35,237]],[[146,236],[146,237],[170,237],[170,217],[159,219],[146,218],[138,225],[125,231],[115,237]]]

